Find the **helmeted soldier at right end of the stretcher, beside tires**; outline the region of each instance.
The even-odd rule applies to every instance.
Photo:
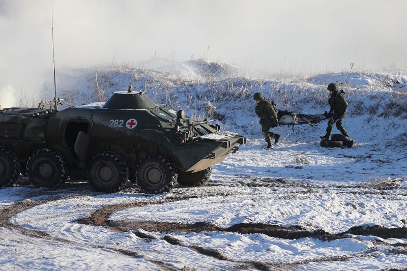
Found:
[[[332,127],[334,123],[336,123],[336,128],[342,133],[344,136],[348,136],[346,133],[345,128],[342,126],[342,118],[346,116],[346,109],[347,109],[347,102],[343,97],[343,91],[338,91],[338,86],[335,83],[330,83],[327,87],[329,91],[329,99],[328,103],[331,106],[331,110],[329,113],[325,111],[326,116],[334,116],[328,121],[327,133],[325,136],[320,136],[323,140],[328,140],[329,136],[332,132]]]

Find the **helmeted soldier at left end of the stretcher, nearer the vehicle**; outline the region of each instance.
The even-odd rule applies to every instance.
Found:
[[[268,99],[265,99],[263,94],[257,92],[253,95],[254,102],[256,103],[256,115],[260,118],[261,133],[263,133],[267,147],[265,149],[272,149],[271,137],[274,138],[274,143],[278,143],[280,138],[279,134],[274,134],[270,132],[270,128],[278,126],[278,119],[276,110],[273,106],[273,102],[270,102]]]

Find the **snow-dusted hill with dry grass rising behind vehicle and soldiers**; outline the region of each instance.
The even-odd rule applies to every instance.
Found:
[[[144,67],[155,69],[121,66],[65,70],[59,73],[57,81],[60,96],[67,105],[103,102],[113,92],[132,85],[135,91],[146,91],[157,104],[171,104],[196,118],[215,118],[223,123],[223,129],[257,138],[254,93],[264,93],[279,110],[321,114],[329,110],[326,87],[335,82],[345,91],[349,103],[344,126],[353,138],[398,138],[406,131],[405,74],[342,72],[277,80],[244,75],[238,68],[223,63],[203,60],[172,63],[161,58],[145,63]],[[314,133],[322,135],[326,123],[321,127],[324,128],[296,127],[296,133],[288,140],[307,140]],[[286,128],[278,130],[286,135],[289,133]]]

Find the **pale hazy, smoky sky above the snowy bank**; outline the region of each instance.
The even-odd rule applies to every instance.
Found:
[[[407,67],[405,0],[53,0],[56,69],[137,67],[155,55],[305,73]],[[6,89],[52,81],[50,0],[0,0]],[[2,102],[3,101],[3,102]]]

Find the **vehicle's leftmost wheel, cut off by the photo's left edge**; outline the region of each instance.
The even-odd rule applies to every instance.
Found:
[[[14,152],[0,147],[0,187],[11,185],[20,176],[20,165]]]

